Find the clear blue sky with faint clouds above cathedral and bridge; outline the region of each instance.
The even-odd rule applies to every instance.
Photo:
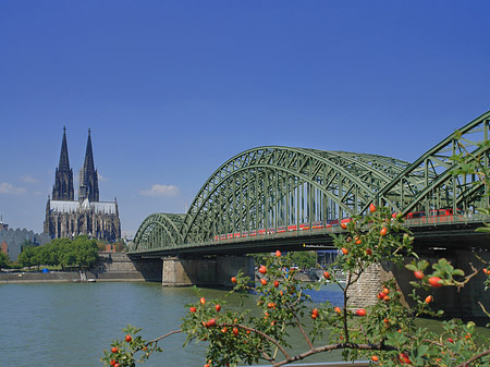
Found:
[[[488,14],[485,0],[1,0],[3,221],[42,230],[64,125],[75,173],[91,129],[124,233],[184,212],[253,147],[413,161],[490,110]]]

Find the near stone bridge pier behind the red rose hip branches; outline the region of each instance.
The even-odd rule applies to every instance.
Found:
[[[474,267],[481,268],[481,262],[475,255],[478,255],[486,261],[490,261],[490,252],[475,253],[471,249],[443,249],[426,252],[418,254],[420,259],[436,264],[438,259],[445,258],[455,268],[463,269],[465,274],[474,272]],[[406,262],[413,259],[407,258]],[[432,268],[428,268],[426,273],[430,273]],[[365,307],[378,302],[377,294],[382,291],[382,284],[389,279],[395,279],[397,288],[402,291],[404,303],[408,306],[414,305],[412,297],[411,281],[415,281],[412,271],[407,269],[397,268],[390,262],[377,264],[366,269],[365,273],[359,280],[350,289],[350,303],[353,307]],[[485,291],[485,274],[480,271],[474,277],[463,289],[457,290],[454,286],[443,286],[440,289],[431,289],[430,294],[433,294],[433,309],[443,309],[444,316],[458,318],[485,318],[486,315],[478,305],[480,302],[483,307],[490,309],[490,290]],[[429,293],[420,292],[421,296]]]

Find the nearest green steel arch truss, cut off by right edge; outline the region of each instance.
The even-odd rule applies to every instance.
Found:
[[[406,215],[413,211],[452,209],[475,211],[488,208],[488,198],[481,181],[475,174],[455,173],[461,164],[452,159],[463,154],[489,167],[490,112],[463,126],[460,134],[452,134],[424,154],[404,172],[399,174],[378,195],[380,205]]]

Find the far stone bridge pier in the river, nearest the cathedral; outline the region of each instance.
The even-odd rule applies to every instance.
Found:
[[[249,256],[166,257],[162,261],[163,286],[231,286],[231,277],[240,270],[254,279],[254,259]]]

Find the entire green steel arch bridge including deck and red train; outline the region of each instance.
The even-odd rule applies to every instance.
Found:
[[[154,213],[140,224],[131,257],[246,254],[329,246],[343,218],[369,204],[407,219],[416,237],[473,235],[488,208],[488,187],[461,173],[464,154],[489,167],[490,111],[451,134],[414,162],[348,151],[266,146],[243,151],[205,182],[186,213]],[[464,168],[464,167],[463,167]],[[448,216],[430,212],[448,209]],[[333,225],[331,225],[333,224]],[[444,240],[445,238],[445,240]]]

